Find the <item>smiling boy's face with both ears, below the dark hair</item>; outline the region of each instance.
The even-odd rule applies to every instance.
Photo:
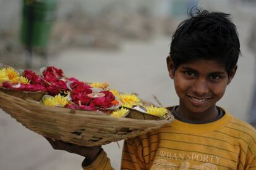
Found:
[[[198,59],[182,63],[175,71],[171,57],[167,58],[167,63],[169,76],[174,79],[179,96],[179,107],[189,113],[213,110],[236,73],[234,68],[228,76],[224,65],[215,60]]]

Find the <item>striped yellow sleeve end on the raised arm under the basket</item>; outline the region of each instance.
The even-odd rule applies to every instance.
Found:
[[[104,150],[101,151],[100,155],[93,161],[89,166],[84,166],[83,170],[113,170],[110,164],[110,160]]]

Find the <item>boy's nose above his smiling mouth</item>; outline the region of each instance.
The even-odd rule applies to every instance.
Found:
[[[203,78],[198,78],[194,81],[192,86],[192,92],[197,95],[203,95],[208,93],[207,80]]]

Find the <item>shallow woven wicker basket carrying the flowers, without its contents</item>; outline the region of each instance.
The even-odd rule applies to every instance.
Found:
[[[42,136],[83,146],[104,145],[139,136],[174,119],[170,113],[161,120],[114,118],[96,111],[46,107],[4,92],[0,92],[0,108]],[[130,110],[132,115],[134,112],[136,110]]]

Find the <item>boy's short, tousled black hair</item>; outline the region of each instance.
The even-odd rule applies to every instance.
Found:
[[[223,12],[191,9],[190,18],[173,34],[170,55],[176,70],[181,63],[196,59],[223,63],[228,75],[236,67],[240,42],[231,16]]]

